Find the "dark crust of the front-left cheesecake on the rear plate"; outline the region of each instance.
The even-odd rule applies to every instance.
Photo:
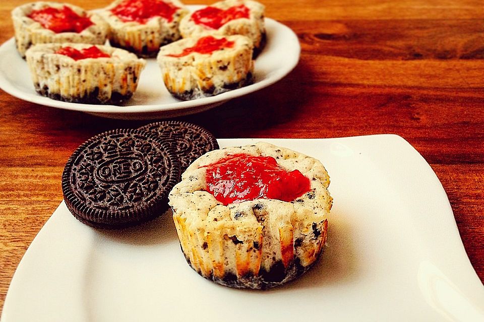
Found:
[[[133,93],[128,93],[126,95],[120,94],[118,92],[112,92],[111,97],[108,100],[99,99],[99,88],[94,88],[93,91],[84,96],[63,96],[58,93],[50,93],[49,88],[44,85],[40,87],[39,84],[35,84],[35,91],[42,96],[51,98],[56,101],[63,101],[69,103],[82,103],[82,104],[119,104],[128,101]]]

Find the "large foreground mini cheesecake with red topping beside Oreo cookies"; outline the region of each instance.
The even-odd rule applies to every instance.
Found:
[[[169,194],[181,249],[201,276],[268,289],[306,272],[332,206],[319,160],[268,143],[213,150]]]

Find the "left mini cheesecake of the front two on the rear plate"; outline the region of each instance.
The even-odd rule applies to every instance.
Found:
[[[35,45],[26,56],[37,93],[88,104],[131,98],[146,63],[123,49],[74,43]]]

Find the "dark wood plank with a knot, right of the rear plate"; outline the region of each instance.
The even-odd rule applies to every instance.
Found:
[[[318,55],[362,60],[484,57],[479,19],[306,21],[292,28],[304,51]]]

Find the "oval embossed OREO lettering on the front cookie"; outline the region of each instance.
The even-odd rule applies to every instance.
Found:
[[[133,180],[147,169],[145,160],[137,156],[119,156],[106,160],[96,170],[96,179],[106,183]]]

